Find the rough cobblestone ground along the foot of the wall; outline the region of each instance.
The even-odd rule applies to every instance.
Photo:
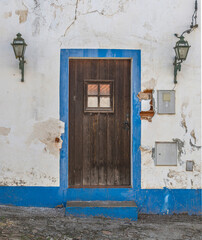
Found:
[[[202,239],[199,216],[140,215],[137,222],[64,216],[64,209],[0,206],[0,240]]]

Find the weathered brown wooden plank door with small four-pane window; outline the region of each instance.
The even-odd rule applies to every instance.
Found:
[[[131,184],[128,59],[69,61],[69,187]]]

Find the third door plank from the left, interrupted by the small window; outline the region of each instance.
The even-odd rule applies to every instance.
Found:
[[[91,61],[82,60],[84,71],[83,71],[83,81],[85,79],[90,79],[91,76]],[[84,83],[83,83],[84,84]],[[84,101],[84,97],[83,97]],[[84,102],[83,102],[84,106]],[[83,111],[83,185],[89,186],[91,183],[91,123],[89,113],[84,113]],[[81,124],[82,124],[81,123]]]

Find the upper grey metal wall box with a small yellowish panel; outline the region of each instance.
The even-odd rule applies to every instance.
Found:
[[[175,91],[158,90],[157,91],[157,113],[174,114],[175,113]]]

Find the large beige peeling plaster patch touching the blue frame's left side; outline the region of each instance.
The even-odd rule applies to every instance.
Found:
[[[35,123],[27,143],[31,144],[33,140],[37,139],[45,144],[45,151],[58,156],[59,150],[62,148],[62,133],[64,133],[64,123],[50,118],[47,121]]]

